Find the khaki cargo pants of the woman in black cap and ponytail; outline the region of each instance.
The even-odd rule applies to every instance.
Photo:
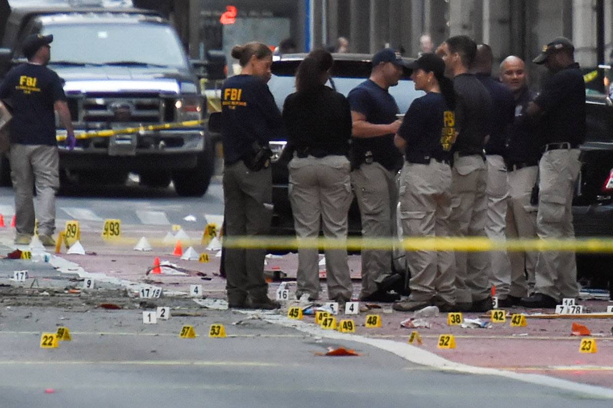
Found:
[[[404,236],[449,237],[451,168],[430,159],[430,164],[405,162],[400,174],[400,218]],[[450,251],[407,251],[411,268],[410,300],[435,298],[455,304],[455,260]]]

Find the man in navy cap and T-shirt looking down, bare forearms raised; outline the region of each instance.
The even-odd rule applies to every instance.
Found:
[[[396,118],[398,105],[388,89],[398,85],[403,60],[391,48],[373,56],[368,80],[352,89],[351,184],[362,216],[362,236],[395,236],[398,187],[396,175],[402,154],[394,146],[394,135],[402,121]],[[387,289],[400,275],[392,274],[391,251],[362,251],[362,292],[360,300],[387,301],[398,297]]]

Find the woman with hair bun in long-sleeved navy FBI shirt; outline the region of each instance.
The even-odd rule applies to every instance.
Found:
[[[224,144],[224,221],[227,237],[266,235],[272,219],[270,137],[282,126],[268,86],[272,51],[260,42],[232,48],[242,67],[221,89]],[[264,249],[227,248],[224,254],[230,308],[276,309],[264,280]]]

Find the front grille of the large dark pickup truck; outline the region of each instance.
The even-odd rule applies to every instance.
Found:
[[[108,124],[152,124],[175,119],[175,99],[158,94],[86,94],[69,98],[72,120],[88,128]]]

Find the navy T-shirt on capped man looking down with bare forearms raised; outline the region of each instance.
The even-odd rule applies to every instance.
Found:
[[[397,119],[399,110],[394,97],[370,79],[351,89],[347,99],[351,110],[362,113],[368,123],[390,124]],[[363,157],[367,151],[372,152],[374,161],[388,170],[397,170],[402,165],[402,154],[394,146],[394,134],[352,138],[352,156]]]

